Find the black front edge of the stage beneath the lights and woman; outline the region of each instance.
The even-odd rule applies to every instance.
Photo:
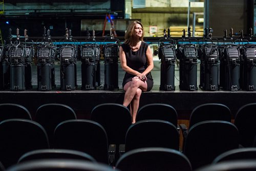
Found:
[[[69,105],[78,119],[89,119],[94,106],[101,103],[120,103],[124,98],[123,90],[73,90],[73,91],[0,91],[0,103],[17,103],[25,106],[34,118],[37,108],[45,103]],[[203,103],[222,103],[228,106],[232,117],[247,103],[256,102],[256,91],[158,91],[143,92],[140,107],[149,103],[172,105],[179,120],[189,120],[191,111]],[[110,111],[111,112],[111,111]]]

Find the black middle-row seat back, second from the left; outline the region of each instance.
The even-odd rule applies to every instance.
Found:
[[[83,119],[59,123],[54,131],[54,148],[74,149],[108,163],[108,137],[97,122]]]

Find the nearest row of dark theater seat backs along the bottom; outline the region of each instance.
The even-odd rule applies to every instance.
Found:
[[[210,164],[196,171],[255,170],[256,148],[238,148],[217,156]],[[2,170],[5,168],[2,167]],[[193,168],[188,158],[175,149],[163,147],[138,148],[123,155],[116,165],[99,163],[90,155],[69,149],[39,149],[19,158],[7,171],[31,170],[183,170]]]

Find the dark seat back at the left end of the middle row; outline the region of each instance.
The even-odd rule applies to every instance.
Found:
[[[4,120],[0,122],[0,135],[0,161],[6,168],[26,152],[49,148],[44,127],[31,120]]]

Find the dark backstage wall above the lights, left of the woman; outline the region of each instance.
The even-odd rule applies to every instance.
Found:
[[[10,28],[13,35],[16,35],[18,28],[20,36],[27,29],[30,37],[40,37],[44,27],[51,30],[51,36],[64,36],[66,28],[72,30],[73,36],[85,36],[81,30],[81,20],[101,19],[103,23],[108,12],[115,13],[115,19],[123,19],[124,2],[125,0],[7,0],[5,15],[0,15],[0,28],[4,38],[8,37]]]

